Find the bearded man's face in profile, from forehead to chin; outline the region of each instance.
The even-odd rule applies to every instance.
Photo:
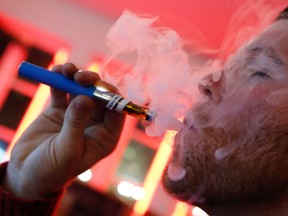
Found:
[[[242,47],[200,90],[209,99],[175,136],[166,190],[211,205],[277,194],[288,181],[288,21]]]

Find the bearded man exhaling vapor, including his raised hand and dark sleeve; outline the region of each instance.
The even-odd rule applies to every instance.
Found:
[[[210,215],[288,214],[288,21],[283,14],[223,71],[205,78],[200,90],[209,100],[191,110],[175,137],[163,184]],[[101,82],[72,64],[53,70],[81,85]],[[113,150],[123,120],[84,96],[69,104],[65,93],[52,89],[51,106],[19,139],[8,167],[2,165],[1,215],[50,215],[67,183]]]

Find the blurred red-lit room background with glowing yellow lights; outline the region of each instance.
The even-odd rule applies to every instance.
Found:
[[[109,54],[105,35],[128,9],[158,16],[161,26],[176,30],[183,38],[191,62],[202,64],[219,54],[232,15],[246,2],[0,0],[1,160],[9,159],[15,140],[49,103],[47,86],[18,77],[22,61],[45,68],[74,62],[79,68],[97,71]],[[268,2],[275,7],[287,4],[280,0]],[[209,52],[197,54],[196,49]],[[119,58],[114,66],[122,61],[129,59]],[[113,64],[110,67],[113,70]],[[162,137],[148,137],[142,122],[128,117],[115,152],[75,180],[58,215],[191,215],[193,207],[175,201],[159,182],[173,135],[167,132]]]

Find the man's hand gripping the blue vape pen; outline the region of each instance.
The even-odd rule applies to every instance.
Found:
[[[117,91],[96,73],[79,72],[71,63],[52,70],[83,86],[97,83]],[[122,114],[87,96],[67,96],[51,89],[51,105],[22,134],[11,153],[4,188],[25,199],[61,190],[114,150],[123,123]]]

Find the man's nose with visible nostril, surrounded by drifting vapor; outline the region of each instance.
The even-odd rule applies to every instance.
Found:
[[[209,74],[198,85],[200,92],[215,103],[219,103],[222,100],[223,74],[223,71]]]

